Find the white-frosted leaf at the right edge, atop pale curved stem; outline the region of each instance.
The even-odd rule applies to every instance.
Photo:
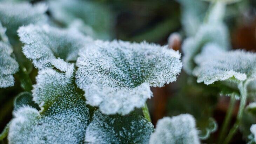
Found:
[[[196,56],[195,62],[198,66],[193,74],[197,76],[197,82],[204,82],[207,85],[228,80],[233,76],[238,81],[244,81],[254,77],[252,74],[256,70],[254,53],[243,50],[224,52],[213,45],[204,47],[202,53]]]

